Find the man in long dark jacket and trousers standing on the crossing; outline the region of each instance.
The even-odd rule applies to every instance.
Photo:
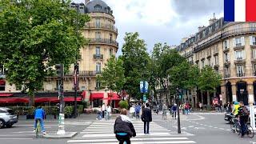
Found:
[[[146,103],[146,107],[142,111],[142,121],[144,122],[144,134],[150,134],[150,122],[152,122],[152,114],[150,104]]]

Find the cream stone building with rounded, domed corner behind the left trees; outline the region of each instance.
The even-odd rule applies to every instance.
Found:
[[[78,6],[78,9],[77,9]],[[78,61],[78,91],[83,91],[86,101],[92,106],[109,102],[108,90],[99,90],[96,74],[100,74],[107,60],[116,55],[118,51],[118,29],[114,26],[115,20],[110,6],[102,0],[86,0],[81,4],[70,4],[71,8],[79,13],[88,14],[90,22],[82,30],[82,35],[89,40],[89,44],[80,49],[81,59]],[[4,77],[4,68],[0,69]],[[1,75],[0,75],[1,76]],[[16,87],[10,86],[4,79],[0,81],[0,92],[17,92]],[[58,91],[58,78],[47,77],[43,82],[43,91]],[[70,72],[65,75],[64,90],[74,90],[74,65],[70,66]],[[113,99],[118,99],[116,94]]]

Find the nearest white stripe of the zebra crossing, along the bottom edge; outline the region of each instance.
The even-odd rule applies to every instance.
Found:
[[[134,141],[155,141],[155,140],[186,140],[188,138],[131,138],[130,140]],[[67,142],[118,142],[116,138],[114,139],[84,139],[84,140],[69,140]]]

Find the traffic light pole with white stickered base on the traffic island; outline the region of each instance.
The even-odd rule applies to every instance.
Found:
[[[57,134],[66,134],[64,127],[64,90],[63,90],[63,80],[64,80],[64,65],[55,65],[58,74],[58,98],[60,100],[59,105],[59,117],[58,117],[58,132]]]

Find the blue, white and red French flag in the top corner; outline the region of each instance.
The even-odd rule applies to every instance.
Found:
[[[224,0],[224,21],[255,22],[256,0]]]

